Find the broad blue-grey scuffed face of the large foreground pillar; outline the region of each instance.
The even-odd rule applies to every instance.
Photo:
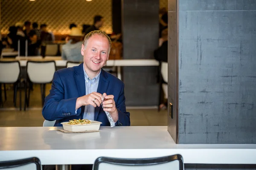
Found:
[[[179,142],[256,143],[256,1],[179,0]]]

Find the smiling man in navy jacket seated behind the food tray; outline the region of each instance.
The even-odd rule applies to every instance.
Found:
[[[111,40],[103,31],[92,31],[84,37],[81,45],[84,62],[55,72],[52,89],[44,102],[44,119],[56,120],[55,126],[71,119],[96,120],[102,122],[101,126],[110,126],[104,112],[108,111],[117,126],[130,125],[124,83],[102,69],[110,49]]]

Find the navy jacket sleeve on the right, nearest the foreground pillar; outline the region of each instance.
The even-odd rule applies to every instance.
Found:
[[[116,108],[118,111],[118,121],[116,122],[116,126],[130,126],[130,113],[126,111],[125,106],[125,91],[124,91],[124,83],[122,83],[122,90],[119,94],[119,97],[116,102]]]

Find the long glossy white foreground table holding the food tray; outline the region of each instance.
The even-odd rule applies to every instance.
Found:
[[[166,126],[100,127],[94,133],[56,129],[0,127],[0,161],[37,156],[42,164],[93,164],[100,156],[152,158],[179,153],[184,163],[255,164],[256,158],[256,144],[175,144]]]

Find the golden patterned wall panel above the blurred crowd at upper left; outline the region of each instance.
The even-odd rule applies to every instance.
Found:
[[[1,32],[8,32],[9,26],[29,20],[46,23],[48,30],[57,34],[67,34],[70,23],[80,28],[83,24],[93,24],[94,15],[104,17],[102,30],[112,33],[112,0],[1,0]]]

